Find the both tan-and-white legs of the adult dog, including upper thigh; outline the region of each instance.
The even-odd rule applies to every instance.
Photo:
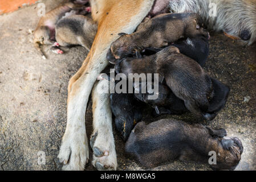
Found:
[[[58,155],[60,162],[64,164],[63,169],[66,170],[83,170],[89,159],[85,114],[91,91],[94,113],[94,131],[91,137],[92,164],[97,169],[117,168],[109,96],[97,92],[97,88],[101,88],[107,82],[103,80],[95,84],[95,81],[108,64],[107,51],[111,43],[119,38],[118,34],[131,34],[149,12],[152,15],[165,10],[169,0],[91,0],[90,3],[92,18],[99,27],[86,60],[68,85],[67,127]],[[248,18],[255,20],[253,17]],[[253,34],[251,35],[251,39],[254,38]]]

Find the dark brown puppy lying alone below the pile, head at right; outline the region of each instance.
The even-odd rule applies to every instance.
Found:
[[[140,122],[125,143],[125,152],[145,168],[153,168],[170,160],[209,164],[209,152],[214,151],[216,164],[210,166],[233,170],[241,159],[243,146],[238,138],[225,136],[224,129],[189,125],[175,119],[161,119],[149,125]]]

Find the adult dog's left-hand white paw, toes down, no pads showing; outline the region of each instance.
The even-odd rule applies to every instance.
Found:
[[[89,148],[86,134],[83,134],[82,131],[65,133],[58,158],[59,162],[63,163],[63,170],[84,170],[84,166],[89,160]]]

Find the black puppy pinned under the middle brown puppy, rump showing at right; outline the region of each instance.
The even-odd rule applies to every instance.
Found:
[[[214,119],[217,116],[218,112],[223,109],[230,91],[229,87],[222,84],[222,82],[214,78],[210,79],[212,80],[213,85],[213,97],[209,101],[209,107],[206,111],[207,114],[205,115],[208,120]],[[139,92],[134,94],[135,97],[138,100],[145,102],[155,108],[155,111],[153,112],[153,115],[155,117],[161,114],[183,114],[188,111],[188,109],[186,109],[184,101],[176,97],[172,90],[170,90],[168,86],[164,83],[159,83],[159,92],[157,93],[158,98],[156,100],[150,100],[148,97],[152,96],[155,93],[141,92],[141,83],[139,86],[137,86],[137,89],[139,89]]]

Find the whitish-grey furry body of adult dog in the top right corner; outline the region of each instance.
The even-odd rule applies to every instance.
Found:
[[[255,0],[172,0],[169,7],[174,13],[197,13],[209,29],[224,31],[246,44],[256,40]]]

